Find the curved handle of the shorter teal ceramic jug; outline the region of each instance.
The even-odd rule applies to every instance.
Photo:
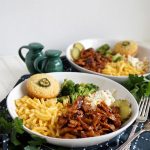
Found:
[[[46,58],[47,58],[47,57],[45,57],[45,56],[39,56],[39,57],[37,57],[37,58],[35,59],[35,61],[34,61],[34,68],[35,68],[36,71],[38,71],[38,72],[40,72],[40,73],[43,72],[42,68],[41,68],[41,69],[39,68],[39,64],[41,64],[41,62],[42,62],[43,60],[45,60]]]

